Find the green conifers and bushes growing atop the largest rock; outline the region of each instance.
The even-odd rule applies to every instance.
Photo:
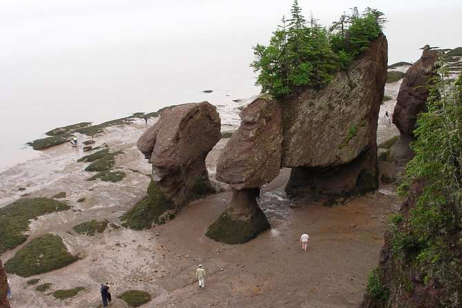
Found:
[[[268,46],[253,46],[256,56],[251,67],[259,72],[256,84],[262,93],[276,97],[300,88],[321,88],[334,79],[338,70],[367,50],[370,41],[382,32],[383,13],[367,8],[363,14],[354,8],[327,29],[311,15],[302,15],[294,0],[291,18],[282,17],[282,25],[273,32]]]

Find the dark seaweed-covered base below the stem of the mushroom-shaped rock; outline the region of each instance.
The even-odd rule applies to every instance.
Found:
[[[243,244],[270,228],[267,217],[261,209],[258,209],[249,220],[233,219],[230,211],[232,209],[224,211],[220,218],[209,226],[206,236],[227,244]]]

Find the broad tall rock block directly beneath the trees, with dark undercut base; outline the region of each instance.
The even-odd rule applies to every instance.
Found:
[[[382,35],[325,88],[282,99],[282,166],[292,168],[289,195],[376,189],[377,120],[386,79]]]

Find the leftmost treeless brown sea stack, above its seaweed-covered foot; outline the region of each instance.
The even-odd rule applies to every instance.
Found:
[[[164,110],[160,119],[137,142],[139,151],[153,166],[153,182],[146,198],[132,210],[139,206],[151,207],[150,213],[155,215],[150,220],[159,224],[172,218],[186,202],[215,192],[205,158],[220,140],[220,127],[220,115],[209,102]],[[135,216],[139,215],[127,212],[122,220],[131,226],[130,221]]]

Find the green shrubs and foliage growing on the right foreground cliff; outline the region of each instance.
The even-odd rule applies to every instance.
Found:
[[[420,184],[422,192],[395,237],[398,246],[410,238],[414,247],[401,244],[401,249],[414,251],[412,256],[427,277],[436,278],[447,293],[462,298],[462,75],[448,84],[442,58],[437,66],[439,74],[430,79],[428,112],[416,122],[415,156],[406,166],[400,188],[403,194]]]

